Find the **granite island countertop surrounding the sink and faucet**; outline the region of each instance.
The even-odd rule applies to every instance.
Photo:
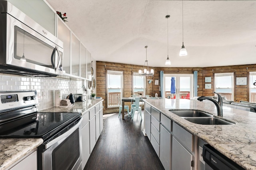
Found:
[[[217,116],[216,106],[212,102],[199,102],[187,99],[145,99],[146,103],[156,107],[164,115],[178,123],[184,129],[198,136],[219,152],[247,170],[256,170],[256,113],[223,107],[223,117]],[[200,125],[191,123],[171,113],[169,109],[198,109],[235,125]]]

